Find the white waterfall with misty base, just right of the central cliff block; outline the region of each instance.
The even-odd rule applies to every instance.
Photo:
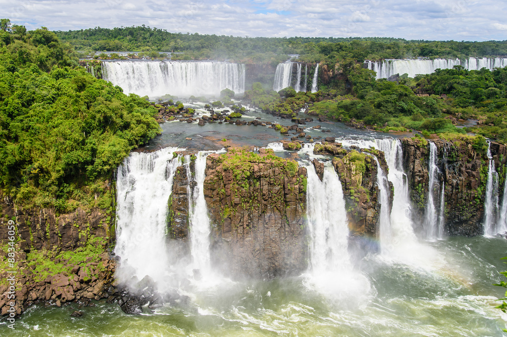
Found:
[[[335,299],[369,296],[370,283],[365,276],[353,270],[347,250],[347,211],[338,174],[330,162],[324,164],[322,181],[313,165],[306,168],[307,219],[311,240],[306,285]]]

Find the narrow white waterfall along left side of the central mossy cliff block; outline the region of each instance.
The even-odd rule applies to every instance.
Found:
[[[206,200],[204,200],[204,171],[207,153],[199,152],[195,157],[194,174],[190,171],[191,156],[185,156],[189,177],[189,234],[193,267],[208,272],[210,267],[209,234],[210,221]]]

